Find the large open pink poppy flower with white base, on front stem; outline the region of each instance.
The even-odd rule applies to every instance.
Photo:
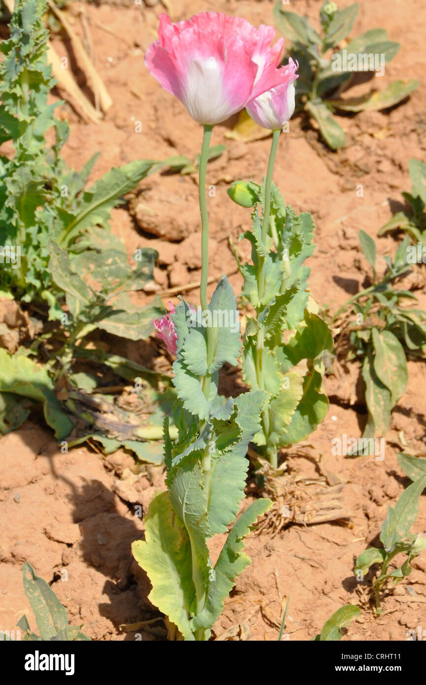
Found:
[[[255,29],[245,19],[218,12],[172,24],[160,14],[158,36],[145,64],[201,124],[221,123],[249,100],[288,82],[285,69],[277,69],[284,40],[271,46],[272,26]]]

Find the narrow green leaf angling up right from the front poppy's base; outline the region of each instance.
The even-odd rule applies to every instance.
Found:
[[[223,602],[234,587],[236,577],[249,565],[249,557],[242,551],[243,539],[250,532],[250,526],[272,505],[270,499],[256,499],[229,532],[225,545],[214,566],[214,580],[208,588],[203,612],[192,620],[196,628],[209,628],[223,611]]]

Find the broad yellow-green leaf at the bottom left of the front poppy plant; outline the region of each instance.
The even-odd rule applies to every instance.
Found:
[[[131,551],[151,581],[149,599],[177,625],[185,640],[195,640],[188,620],[195,598],[190,540],[168,493],[151,500],[145,517],[145,540],[136,540]]]

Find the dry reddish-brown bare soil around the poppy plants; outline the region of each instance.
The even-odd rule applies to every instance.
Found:
[[[349,1],[340,4],[348,5]],[[307,12],[316,21],[320,5],[318,0],[297,0],[292,10]],[[179,101],[160,88],[143,64],[144,51],[155,39],[160,5],[151,9],[133,4],[84,6],[92,57],[114,105],[100,125],[82,123],[69,105],[62,106],[71,123],[70,140],[64,149],[66,160],[79,168],[89,155],[101,150],[95,179],[110,166],[136,158],[193,158],[199,151],[200,127]],[[79,35],[83,35],[82,8],[80,3],[71,3],[67,10]],[[200,10],[225,11],[245,16],[258,25],[271,23],[272,8],[268,1],[175,0],[171,12],[173,20],[177,20]],[[426,55],[422,9],[421,0],[390,0],[386,12],[381,3],[361,0],[353,34],[384,26],[392,40],[402,43],[399,55],[379,79],[380,87],[397,78],[423,77]],[[53,43],[60,55],[66,53],[60,38]],[[82,75],[79,79],[84,82]],[[395,203],[399,203],[401,190],[410,190],[408,161],[422,159],[425,153],[425,97],[426,84],[422,83],[408,102],[390,112],[340,117],[348,145],[338,153],[327,151],[314,132],[304,132],[301,119],[292,120],[290,132],[282,136],[275,182],[286,201],[299,211],[312,212],[316,221],[317,247],[310,259],[310,288],[323,307],[336,310],[348,293],[356,292],[364,282],[368,269],[358,247],[358,229],[376,237]],[[137,121],[142,122],[140,134],[135,133]],[[209,167],[208,183],[216,186],[216,196],[209,199],[211,274],[231,274],[231,284],[238,292],[240,278],[233,273],[235,262],[228,238],[238,238],[242,226],[248,225],[248,214],[227,199],[226,189],[234,179],[262,177],[269,140],[249,144],[227,140],[224,134],[232,123],[214,129],[213,144],[226,142],[227,151]],[[363,197],[356,192],[360,184]],[[140,188],[145,192],[138,201],[147,203],[150,225],[157,226],[161,237],[142,232],[126,208],[114,210],[113,232],[123,238],[129,256],[136,247],[158,249],[156,279],[160,288],[196,281],[200,274],[200,225],[195,179],[156,174]],[[393,253],[395,245],[392,238],[381,238],[379,253]],[[416,295],[424,306],[424,285]],[[139,298],[145,301],[146,295],[140,294]],[[197,301],[197,290],[192,290],[188,299]],[[129,343],[121,347],[121,353],[143,360],[152,349],[155,347],[149,347],[148,353],[144,343]],[[239,623],[243,632],[249,626],[249,639],[275,640],[281,600],[290,595],[286,632],[290,640],[308,640],[339,606],[360,603],[353,577],[355,556],[375,541],[388,504],[394,506],[409,484],[396,458],[401,431],[412,451],[425,450],[426,417],[421,390],[426,383],[425,366],[410,362],[409,370],[407,391],[392,413],[383,461],[331,455],[332,438],[342,433],[360,436],[365,416],[358,415],[354,407],[358,369],[351,366],[343,377],[327,378],[326,390],[331,397],[327,418],[306,441],[313,447],[302,446],[289,452],[288,470],[303,477],[318,477],[324,469],[338,475],[347,482],[344,498],[345,506],[353,512],[351,519],[347,524],[293,525],[274,538],[266,533],[251,535],[247,551],[252,564],[238,578],[236,590],[225,603],[216,635]],[[134,505],[140,503],[146,508],[149,497],[162,484],[161,473],[148,469],[136,479],[129,471],[133,460],[121,452],[103,458],[84,446],[63,454],[51,434],[32,423],[0,441],[0,464],[0,629],[13,629],[23,612],[34,623],[22,589],[21,567],[28,561],[39,575],[53,583],[71,623],[82,623],[90,637],[134,639],[134,632],[121,632],[119,625],[155,616],[141,603],[130,568],[130,543],[143,530]],[[426,530],[425,497],[421,498],[415,530]],[[364,610],[343,639],[405,640],[409,628],[425,625],[425,552],[413,566],[408,582],[384,600],[384,614],[374,619],[369,610]],[[164,639],[161,629],[150,630],[153,632],[139,630],[142,639]]]

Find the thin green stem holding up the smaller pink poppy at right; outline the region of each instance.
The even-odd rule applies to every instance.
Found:
[[[266,172],[264,212],[263,212],[263,218],[262,218],[262,242],[263,243],[266,242],[266,238],[268,237],[269,216],[271,215],[272,175],[273,175],[273,169],[274,169],[274,163],[275,163],[275,155],[277,154],[277,149],[278,149],[278,142],[279,142],[279,134],[280,133],[281,133],[281,129],[279,129],[278,131],[273,131],[271,152],[269,153],[268,171]],[[275,236],[274,236],[274,241],[275,241]],[[276,244],[275,244],[275,247],[277,247]],[[259,302],[262,301],[262,299],[264,297],[265,273],[266,273],[265,260],[263,257],[260,257],[259,258],[259,279],[258,279]],[[259,313],[261,308],[262,308],[262,305],[259,305],[258,313]],[[256,340],[256,377],[258,380],[258,386],[261,390],[265,389],[264,374],[263,374],[263,351],[264,351],[264,329],[263,329],[263,326],[260,326],[259,330],[258,330],[258,337]],[[264,410],[264,412],[262,412],[262,423],[263,423],[263,429],[264,429],[264,434],[266,436],[266,443],[267,443],[268,436],[269,436],[269,433],[271,431],[271,420],[270,420],[270,416],[269,416],[269,408],[266,408]],[[276,468],[278,465],[277,464],[277,450],[273,449],[273,451],[268,451],[268,458],[271,461],[271,464],[273,464],[273,466],[275,466],[275,468]]]

